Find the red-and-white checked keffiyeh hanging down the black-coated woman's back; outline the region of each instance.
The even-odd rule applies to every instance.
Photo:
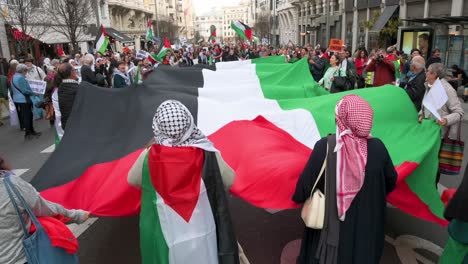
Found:
[[[347,95],[336,105],[335,114],[336,194],[338,216],[344,221],[346,211],[364,184],[374,110],[361,97]]]

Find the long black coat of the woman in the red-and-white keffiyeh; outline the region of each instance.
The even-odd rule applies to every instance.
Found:
[[[293,196],[304,203],[310,196],[327,149],[327,138],[319,140],[302,172]],[[364,185],[340,222],[338,264],[379,263],[384,248],[386,196],[395,188],[397,173],[387,148],[377,138],[367,141],[367,164]],[[324,181],[318,183],[323,191]],[[318,264],[315,259],[321,230],[305,228],[298,264]]]

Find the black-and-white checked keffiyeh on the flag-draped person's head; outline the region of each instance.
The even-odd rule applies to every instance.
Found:
[[[156,144],[163,146],[193,146],[217,151],[211,141],[195,126],[193,116],[181,102],[167,100],[161,103],[153,118]]]

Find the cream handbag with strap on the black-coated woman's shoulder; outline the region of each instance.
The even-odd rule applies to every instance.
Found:
[[[310,191],[310,197],[305,201],[301,211],[301,217],[304,221],[304,224],[308,228],[312,229],[322,229],[325,220],[325,195],[320,190],[315,190],[315,187],[317,187],[317,183],[320,181],[325,171],[325,167],[327,166],[327,158],[328,144],[327,154],[325,155],[325,160],[323,161],[322,169],[320,169],[319,176],[315,181],[314,187],[312,187],[312,190]],[[325,177],[324,190],[326,190],[326,186],[327,177]]]

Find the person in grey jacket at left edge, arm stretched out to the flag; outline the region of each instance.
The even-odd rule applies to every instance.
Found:
[[[15,207],[6,191],[5,180],[9,177],[13,186],[18,190],[37,217],[62,215],[70,218],[72,223],[81,224],[89,218],[89,213],[83,210],[67,210],[63,206],[47,201],[39,192],[21,177],[14,175],[11,166],[0,157],[0,263],[17,264],[27,263],[24,251],[24,232],[19,222]],[[26,226],[31,225],[31,220],[22,203],[15,199]]]

